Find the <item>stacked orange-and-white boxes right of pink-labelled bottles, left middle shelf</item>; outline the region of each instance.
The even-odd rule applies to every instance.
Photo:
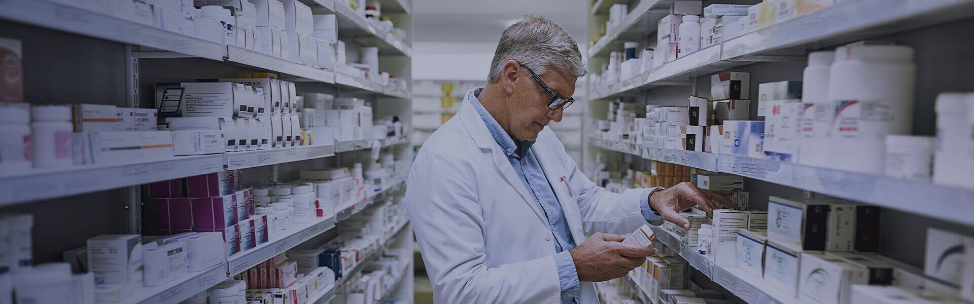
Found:
[[[183,149],[192,144],[173,141],[173,134],[168,131],[157,131],[156,109],[74,104],[71,111],[75,165],[164,159],[173,155],[174,146]]]

